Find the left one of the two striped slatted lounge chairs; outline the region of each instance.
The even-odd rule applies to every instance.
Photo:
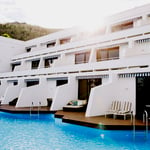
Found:
[[[105,112],[105,118],[107,115],[113,115],[114,113],[118,112],[121,107],[120,101],[112,101],[110,109]]]

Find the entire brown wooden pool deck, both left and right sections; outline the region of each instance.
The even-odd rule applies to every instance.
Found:
[[[15,106],[1,105],[0,111],[9,113],[30,113],[30,107],[16,108]],[[31,113],[38,113],[38,107],[34,107]],[[99,128],[105,130],[133,130],[133,123],[130,118],[113,119],[112,117],[105,118],[104,116],[85,117],[85,112],[68,112],[68,111],[50,111],[50,107],[40,107],[39,113],[52,113],[56,118],[61,118],[62,122]],[[149,124],[150,127],[150,124]],[[135,119],[135,129],[145,130],[145,124],[142,120]]]

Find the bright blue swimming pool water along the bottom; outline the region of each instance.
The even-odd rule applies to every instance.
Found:
[[[150,135],[62,123],[52,114],[0,112],[0,150],[149,150]]]

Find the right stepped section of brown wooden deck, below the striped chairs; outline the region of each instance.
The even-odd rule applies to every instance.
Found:
[[[105,130],[133,130],[133,122],[131,122],[130,118],[124,120],[123,118],[105,118],[105,116],[85,117],[84,112],[64,111],[57,111],[55,113],[55,117],[62,118],[62,121],[66,123],[83,125],[92,128],[99,128]],[[135,129],[145,130],[145,124],[142,122],[142,120],[135,119]]]

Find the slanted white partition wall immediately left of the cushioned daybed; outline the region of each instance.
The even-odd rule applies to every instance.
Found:
[[[78,82],[75,77],[68,78],[68,83],[57,87],[51,110],[61,110],[70,100],[77,99]]]

